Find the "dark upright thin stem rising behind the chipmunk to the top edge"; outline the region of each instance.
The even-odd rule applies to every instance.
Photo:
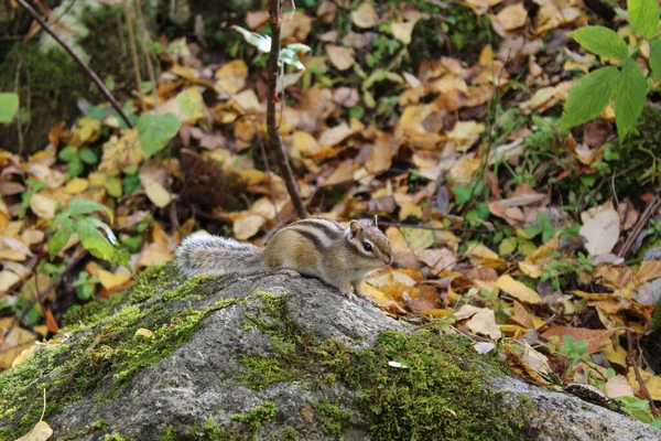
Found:
[[[280,73],[280,0],[271,0],[269,7],[269,24],[271,25],[271,54],[269,56],[269,97],[267,98],[267,128],[269,132],[269,142],[271,149],[275,152],[278,166],[282,173],[282,179],[286,185],[286,191],[292,198],[294,208],[300,218],[307,217],[307,209],[301,200],[301,194],[294,180],[294,174],[286,158],[286,152],[282,146],[282,139],[278,132],[275,123],[275,99],[278,97],[278,74]]]

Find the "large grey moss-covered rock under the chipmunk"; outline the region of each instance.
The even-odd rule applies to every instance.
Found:
[[[661,439],[315,279],[151,270],[68,321],[63,345],[0,375],[0,439],[39,421],[44,387],[65,439]]]

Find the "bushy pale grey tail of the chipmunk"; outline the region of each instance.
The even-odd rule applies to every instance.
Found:
[[[188,236],[176,249],[180,270],[186,276],[252,273],[267,269],[262,250],[219,236]]]

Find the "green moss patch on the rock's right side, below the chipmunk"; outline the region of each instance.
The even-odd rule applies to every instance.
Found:
[[[506,369],[496,354],[476,359],[469,341],[435,327],[383,332],[373,347],[358,352],[343,342],[319,343],[289,318],[288,297],[260,297],[264,309],[247,316],[247,324],[271,336],[277,355],[245,357],[243,384],[261,390],[280,381],[312,388],[342,381],[360,392],[356,404],[375,440],[524,439],[529,406],[508,405],[488,386],[489,376]],[[333,402],[313,408],[333,438],[340,438],[355,417]]]

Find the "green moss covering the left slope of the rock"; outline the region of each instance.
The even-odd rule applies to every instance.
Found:
[[[0,440],[14,439],[39,421],[44,388],[46,418],[91,392],[97,400],[111,400],[137,373],[180,347],[212,311],[240,301],[224,299],[195,310],[187,299],[197,297],[195,288],[203,278],[189,279],[180,287],[181,292],[173,289],[161,294],[159,290],[176,281],[170,271],[169,267],[145,271],[133,291],[120,295],[124,305],[109,301],[83,306],[69,318],[75,324],[65,331],[86,335],[76,343],[42,351],[29,363],[0,374]],[[170,302],[162,299],[166,294]],[[169,304],[173,302],[176,304]]]

